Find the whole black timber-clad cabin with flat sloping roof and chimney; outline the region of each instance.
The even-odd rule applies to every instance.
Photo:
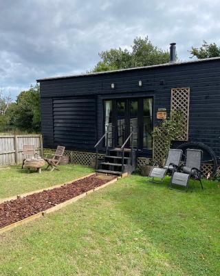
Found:
[[[173,47],[174,43],[171,57]],[[151,157],[153,126],[170,109],[180,108],[186,124],[183,140],[201,142],[220,155],[219,58],[171,59],[156,66],[37,81],[45,148],[61,145],[67,150],[94,152],[109,125],[110,146],[122,146],[133,129],[137,156]]]

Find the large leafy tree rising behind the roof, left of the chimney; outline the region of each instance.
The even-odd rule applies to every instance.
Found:
[[[168,51],[153,46],[148,37],[136,37],[130,51],[118,48],[100,52],[98,55],[101,61],[96,64],[93,72],[151,66],[169,61]]]

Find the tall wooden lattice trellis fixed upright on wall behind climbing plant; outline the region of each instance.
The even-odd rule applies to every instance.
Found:
[[[189,106],[190,106],[190,88],[172,88],[171,89],[171,110],[181,110],[184,115],[184,129],[178,141],[188,141],[188,119],[189,119]]]

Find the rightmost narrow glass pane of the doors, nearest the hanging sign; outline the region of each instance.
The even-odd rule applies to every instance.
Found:
[[[143,100],[143,111],[144,111],[144,128],[143,128],[143,146],[149,150],[152,149],[152,104],[153,99]]]

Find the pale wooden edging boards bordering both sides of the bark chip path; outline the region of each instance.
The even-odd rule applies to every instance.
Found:
[[[89,174],[86,177],[89,177],[90,175],[94,175],[94,173]],[[83,179],[83,178],[85,178],[85,177],[80,177],[80,179]],[[95,192],[96,190],[104,188],[104,187],[108,186],[109,184],[115,183],[118,180],[118,178],[120,178],[120,177],[116,177],[116,178],[112,179],[111,181],[109,181],[109,182],[107,182],[107,183],[105,183],[105,184],[103,184],[103,185],[101,185],[101,186],[99,186],[97,188],[94,188],[92,190],[88,190],[86,193],[83,193],[81,195],[73,197],[72,199],[64,201],[61,204],[57,204],[56,206],[53,206],[52,208],[49,208],[49,209],[47,209],[47,210],[45,210],[43,212],[37,213],[37,214],[32,215],[30,217],[26,217],[25,219],[22,219],[20,221],[14,222],[14,224],[10,224],[8,226],[5,226],[5,227],[3,227],[3,228],[0,229],[0,235],[3,234],[3,233],[5,233],[5,232],[7,232],[7,231],[9,231],[9,230],[12,230],[13,228],[15,228],[17,226],[21,226],[23,224],[26,224],[29,221],[33,221],[34,219],[39,219],[40,217],[45,216],[46,214],[52,213],[52,212],[54,212],[56,210],[59,210],[59,209],[65,207],[65,206],[69,205],[69,204],[72,204],[73,202],[78,201],[79,199],[81,199],[81,198],[89,195],[90,193]],[[80,180],[80,179],[78,179],[78,180]],[[70,183],[72,183],[72,182],[70,182]],[[63,186],[63,184],[61,184],[60,186]],[[43,190],[45,190],[45,189],[43,189]]]

